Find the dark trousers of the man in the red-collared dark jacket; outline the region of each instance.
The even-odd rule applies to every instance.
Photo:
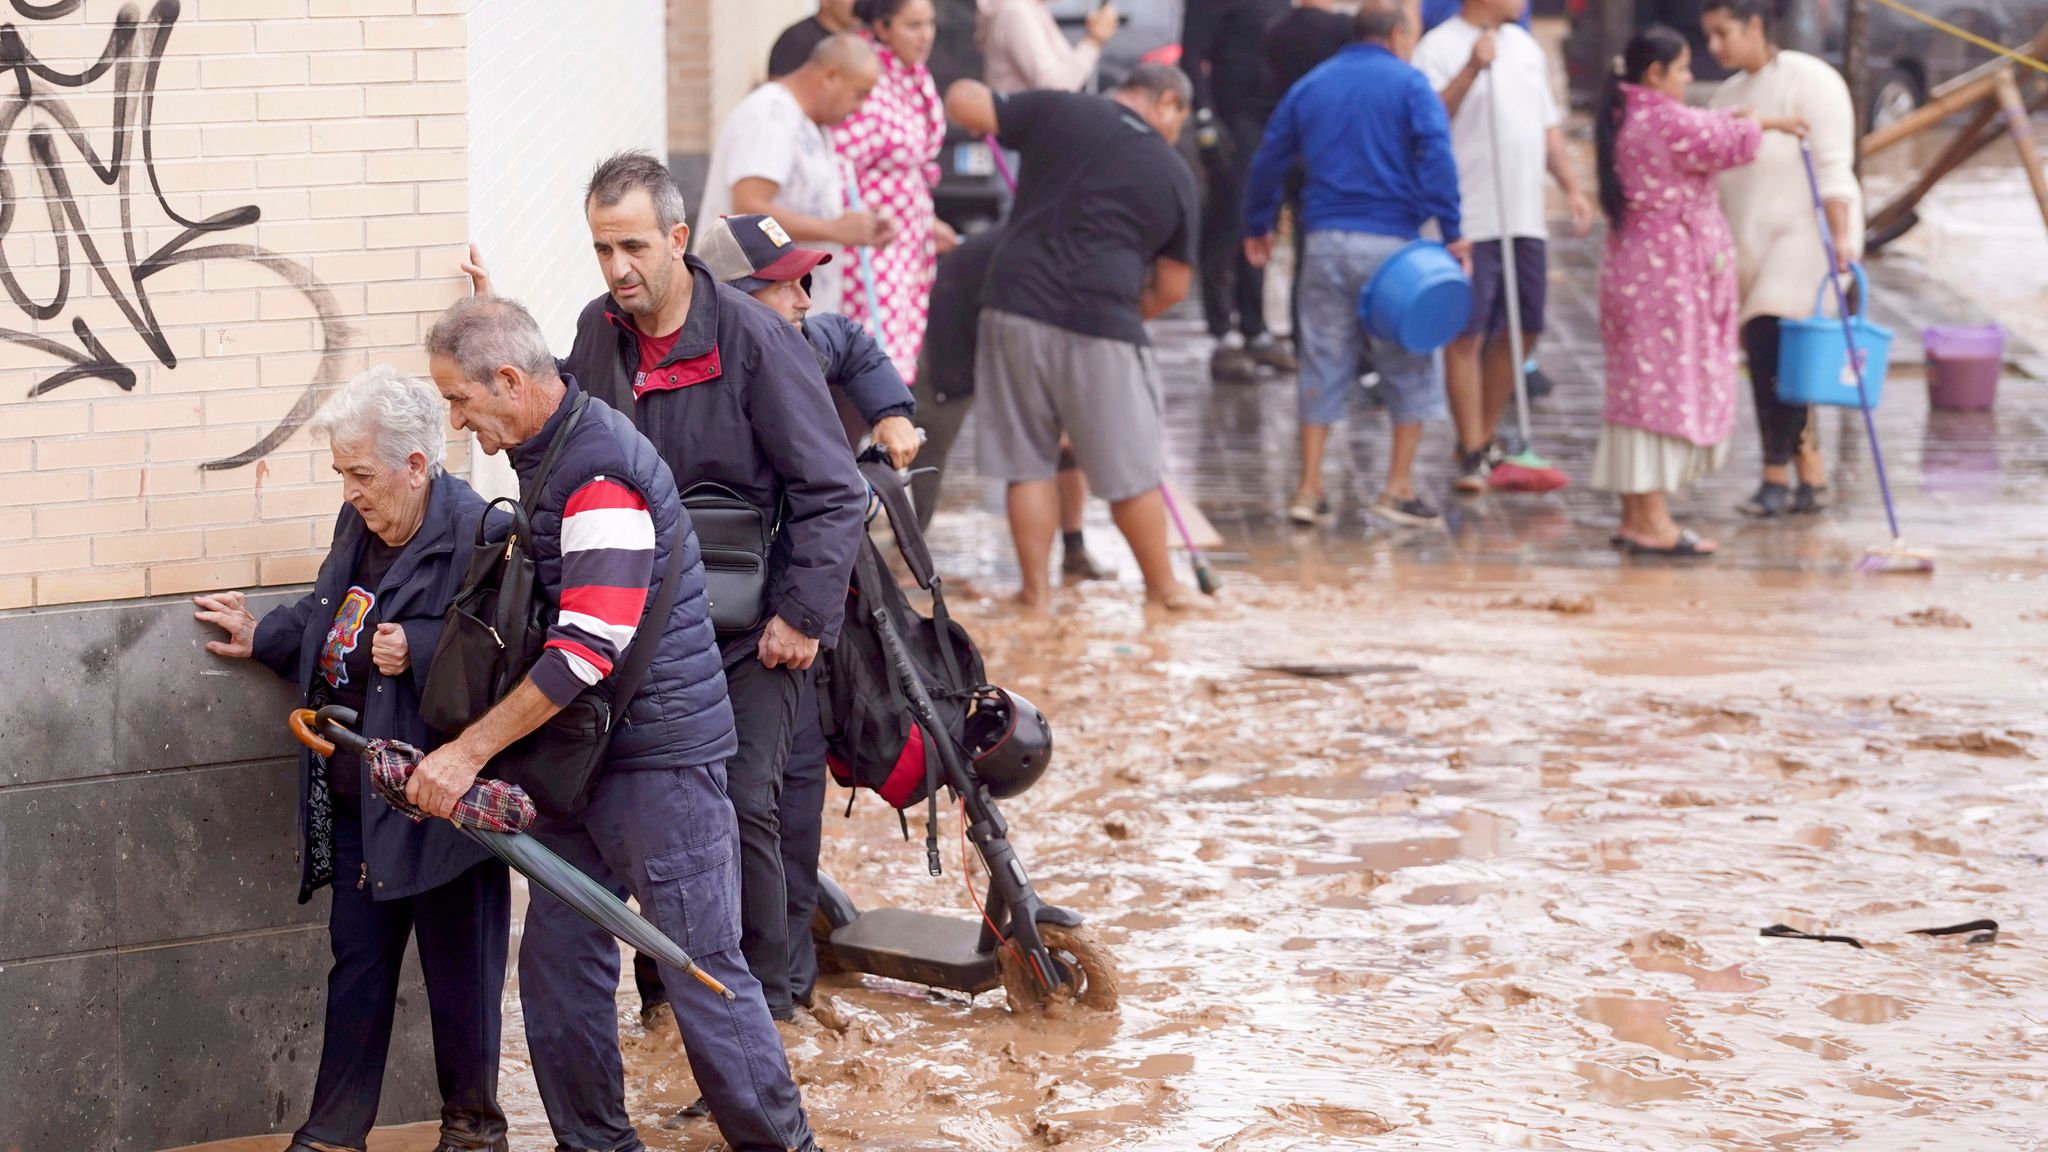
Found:
[[[725,668],[739,750],[725,760],[725,787],[739,818],[739,951],[762,986],[768,1011],[786,1021],[797,1009],[788,994],[788,894],[782,875],[782,769],[797,734],[797,697],[805,672],[768,668],[748,656]],[[813,861],[815,861],[813,849]],[[813,863],[815,869],[815,863]],[[813,881],[815,883],[815,881]],[[641,1006],[666,998],[653,961],[633,957]]]

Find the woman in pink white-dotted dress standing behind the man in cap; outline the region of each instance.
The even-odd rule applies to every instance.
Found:
[[[848,184],[860,191],[860,207],[893,219],[897,234],[868,254],[866,266],[846,250],[840,312],[868,326],[903,381],[913,383],[932,275],[938,258],[958,244],[932,209],[938,150],[946,141],[946,109],[926,68],[938,14],[932,0],[860,0],[854,14],[874,41],[883,76],[866,105],[831,129],[831,146],[848,166]]]

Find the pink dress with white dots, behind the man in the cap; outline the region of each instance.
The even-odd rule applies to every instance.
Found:
[[[860,189],[860,205],[897,223],[895,240],[870,252],[868,262],[874,275],[874,301],[883,314],[883,351],[903,373],[903,381],[913,383],[918,353],[924,348],[926,312],[932,303],[932,275],[938,269],[932,246],[932,189],[938,184],[946,111],[928,68],[905,64],[883,43],[877,43],[874,51],[883,59],[883,78],[868,94],[868,102],[831,131],[831,146]],[[842,310],[872,332],[860,254],[848,248],[836,258],[846,262]]]

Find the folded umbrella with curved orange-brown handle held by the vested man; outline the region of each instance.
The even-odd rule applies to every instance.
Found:
[[[348,728],[354,722],[356,713],[346,707],[324,707],[317,713],[301,707],[291,713],[291,734],[322,756],[332,756],[336,744],[356,748],[365,756],[365,763],[371,765],[371,785],[377,789],[377,795],[414,820],[424,820],[424,812],[403,801],[406,781],[412,777],[412,769],[420,765],[420,750],[397,740],[365,740]],[[389,781],[395,781],[395,801],[391,799],[389,789],[393,785]],[[584,875],[582,869],[557,857],[541,840],[518,832],[518,828],[532,824],[532,799],[516,785],[477,781],[457,804],[455,820],[451,822],[465,836],[483,845],[485,851],[524,875],[532,886],[582,912],[592,924],[651,955],[657,963],[688,972],[719,996],[733,998],[731,988],[698,968],[690,959],[690,953],[682,951],[662,929],[629,908],[612,890]]]

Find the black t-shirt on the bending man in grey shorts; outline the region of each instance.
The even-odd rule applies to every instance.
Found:
[[[1194,172],[1137,113],[1079,92],[995,96],[997,137],[1024,154],[983,307],[1145,344],[1139,295],[1165,256],[1194,264]]]

